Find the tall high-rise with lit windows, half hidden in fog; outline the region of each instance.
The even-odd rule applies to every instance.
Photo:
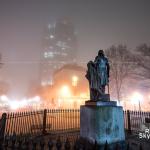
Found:
[[[69,19],[60,19],[49,24],[43,38],[41,53],[41,84],[52,85],[53,73],[62,65],[76,61],[77,38]]]

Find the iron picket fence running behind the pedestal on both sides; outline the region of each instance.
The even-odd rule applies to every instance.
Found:
[[[150,128],[150,112],[124,111],[124,125],[130,134]],[[7,113],[0,120],[0,136],[10,136],[13,133],[16,135],[67,133],[79,130],[79,109],[44,109]]]

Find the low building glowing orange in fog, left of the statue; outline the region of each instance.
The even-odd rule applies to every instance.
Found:
[[[61,108],[79,108],[89,99],[86,69],[77,64],[66,64],[54,72],[55,100]]]

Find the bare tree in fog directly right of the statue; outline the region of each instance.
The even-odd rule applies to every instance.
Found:
[[[117,99],[120,101],[124,81],[133,74],[135,56],[124,45],[113,45],[105,53],[110,61],[111,85],[114,85]]]

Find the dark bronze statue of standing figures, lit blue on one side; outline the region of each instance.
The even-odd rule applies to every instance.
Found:
[[[94,62],[87,64],[86,78],[90,86],[90,99],[100,100],[105,94],[105,86],[109,84],[109,62],[103,50],[99,50]]]

